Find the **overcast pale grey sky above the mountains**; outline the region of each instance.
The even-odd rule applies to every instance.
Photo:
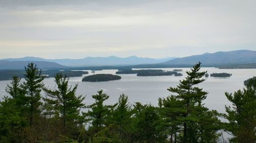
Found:
[[[256,50],[256,1],[0,0],[0,59]]]

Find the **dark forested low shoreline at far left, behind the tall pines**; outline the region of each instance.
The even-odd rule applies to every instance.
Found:
[[[83,74],[88,74],[88,71],[41,70],[41,75],[46,78],[50,78],[50,77],[55,77],[55,75],[59,72],[67,75],[67,77],[76,77],[76,76],[82,76]],[[26,73],[25,70],[0,70],[0,80],[11,80],[12,76],[23,78],[25,73]]]

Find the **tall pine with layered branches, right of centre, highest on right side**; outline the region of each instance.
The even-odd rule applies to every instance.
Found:
[[[182,142],[205,142],[205,138],[207,138],[209,142],[216,142],[218,138],[218,129],[202,128],[203,125],[204,127],[210,128],[215,124],[218,124],[219,121],[216,117],[217,115],[211,113],[211,111],[202,104],[202,101],[206,98],[207,92],[195,86],[205,80],[202,77],[206,72],[199,72],[200,65],[201,63],[198,63],[191,68],[191,71],[186,71],[188,76],[180,81],[177,88],[170,87],[168,89],[168,91],[176,93],[176,96],[160,100],[159,103],[161,106],[168,107],[167,109],[169,109],[169,112],[165,112],[170,113],[170,117],[176,118],[173,119],[173,121],[170,120],[170,125],[167,125],[167,127],[170,127],[172,131],[175,131],[174,135],[176,135],[178,130],[182,129],[182,132],[179,133],[179,135],[182,136]],[[177,126],[180,128],[176,128]],[[173,132],[170,133],[171,138],[172,134]]]

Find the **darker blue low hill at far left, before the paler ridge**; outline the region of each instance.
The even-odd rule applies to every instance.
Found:
[[[35,63],[39,69],[60,69],[67,68],[66,66],[59,65],[53,62],[45,62],[45,61],[5,61],[0,60],[0,70],[3,69],[21,69],[24,70],[24,67],[29,63]]]

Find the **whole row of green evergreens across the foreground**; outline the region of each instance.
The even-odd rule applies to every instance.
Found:
[[[222,142],[221,130],[233,135],[230,142],[255,142],[256,80],[234,94],[225,93],[233,106],[218,113],[203,104],[208,93],[197,87],[206,74],[200,65],[153,106],[130,104],[124,94],[116,104],[106,105],[109,95],[102,90],[86,105],[66,75],[57,73],[56,87],[49,89],[31,63],[23,82],[13,76],[6,88],[10,97],[0,102],[0,142]]]

